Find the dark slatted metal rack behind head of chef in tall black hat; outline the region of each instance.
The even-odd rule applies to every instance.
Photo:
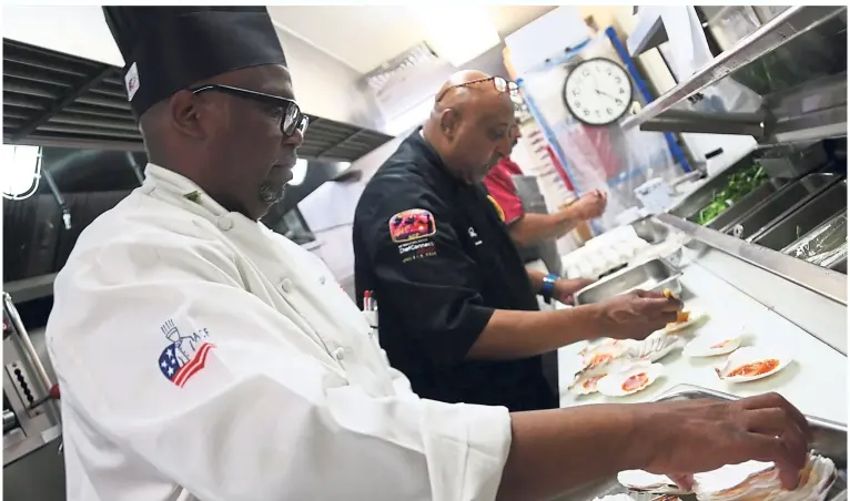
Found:
[[[392,136],[310,116],[298,154],[354,162]],[[144,151],[121,69],[3,39],[3,142]]]

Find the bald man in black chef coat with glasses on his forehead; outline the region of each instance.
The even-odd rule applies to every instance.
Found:
[[[516,84],[466,71],[370,180],[354,215],[357,297],[374,292],[381,345],[423,398],[553,408],[540,356],[601,336],[644,338],[679,303],[635,292],[539,311],[588,280],[526,270],[482,180],[512,149]]]

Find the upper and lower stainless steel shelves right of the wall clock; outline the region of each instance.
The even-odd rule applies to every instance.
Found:
[[[840,34],[846,38],[846,12],[844,6],[797,6],[787,9],[719,54],[690,79],[647,104],[640,113],[625,120],[621,126],[659,132],[746,134],[752,135],[762,145],[846,136],[846,71],[805,81],[792,89],[761,92],[761,109],[750,113],[672,109],[777,49],[795,43],[795,40],[830,20],[841,17],[844,27]]]

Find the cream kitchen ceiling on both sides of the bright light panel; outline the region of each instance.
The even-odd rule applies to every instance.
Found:
[[[528,24],[553,6],[488,6],[490,19],[504,38]],[[398,6],[270,6],[279,27],[305,40],[360,73],[425,40],[408,7]]]

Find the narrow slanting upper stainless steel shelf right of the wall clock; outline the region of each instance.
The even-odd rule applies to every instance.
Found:
[[[685,99],[725,79],[762,55],[790,42],[802,33],[847,11],[846,6],[791,7],[755,33],[741,39],[694,75],[647,104],[642,111],[621,123],[623,129],[634,129],[655,119]]]

